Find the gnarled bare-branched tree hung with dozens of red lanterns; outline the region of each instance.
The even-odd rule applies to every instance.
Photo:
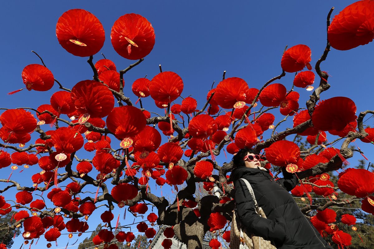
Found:
[[[368,4],[368,1],[355,4]],[[373,4],[365,5],[364,9],[368,8],[374,12]],[[67,52],[88,57],[93,80],[80,81],[70,89],[70,86],[55,79],[46,66],[48,63],[45,64],[35,52],[41,64],[30,64],[24,68],[22,79],[27,90],[47,91],[56,82],[61,91],[51,94],[50,104],[46,100],[46,104],[39,107],[7,109],[0,115],[3,125],[0,138],[4,142],[0,144],[4,148],[0,151],[1,168],[10,167],[13,172],[22,165],[40,167],[40,172],[31,176],[34,185],[13,180],[12,174],[8,179],[0,179],[5,186],[1,193],[17,190],[14,203],[0,198],[1,214],[9,214],[12,208],[19,209],[16,214],[19,219],[0,230],[14,229],[23,224],[24,239],[37,239],[44,234],[45,239],[52,242],[65,231],[65,227],[67,233],[87,231],[85,220],[90,219],[91,215],[101,217],[104,214],[102,208],[106,208],[107,212],[119,212],[120,208],[125,208],[135,215],[145,214],[148,224],[156,222],[173,226],[175,236],[188,248],[202,248],[205,236],[214,237],[208,231],[229,230],[229,222],[211,227],[208,220],[213,213],[219,213],[227,221],[232,219],[234,189],[229,174],[233,164],[223,162],[223,154],[234,154],[243,147],[253,147],[259,153],[266,149],[266,160],[262,163],[271,169],[275,178],[281,176],[282,167],[291,172],[300,171],[298,177],[301,185],[298,186],[297,197],[310,197],[310,205],[304,203],[306,205],[301,207],[307,216],[315,217],[315,211],[324,211],[332,206],[344,208],[349,205],[374,213],[370,207],[374,200],[369,197],[374,192],[371,172],[363,168],[362,162],[358,169],[344,171],[347,168],[346,159],[352,158],[354,152],[361,153],[358,147],[352,147],[351,142],[374,142],[373,131],[364,126],[366,115],[374,114],[374,111],[362,111],[356,116],[356,105],[347,97],[333,97],[319,102],[330,88],[329,74],[322,71],[327,69],[321,66],[331,46],[346,50],[348,45],[348,49],[353,49],[356,45],[368,43],[370,36],[368,40],[355,39],[366,37],[362,29],[373,27],[374,24],[367,25],[373,18],[365,17],[366,14],[361,16],[357,20],[366,18],[367,22],[357,25],[360,35],[341,39],[337,36],[346,32],[336,30],[339,25],[335,23],[339,18],[330,21],[332,10],[327,16],[329,41],[332,43],[327,42],[322,56],[313,67],[309,47],[303,44],[285,47],[279,58],[279,75],[257,86],[259,89],[249,88],[241,78],[226,78],[224,71],[223,80],[216,88],[211,87],[206,102],[199,102],[199,107],[197,100],[189,97],[188,93],[182,96],[184,85],[181,77],[175,72],[163,72],[161,65],[160,73],[154,75],[151,81],[142,77],[132,84],[132,91],[137,97],[130,99],[130,89],[124,85],[124,75],[142,63],[155,44],[154,30],[147,19],[137,14],[127,14],[114,22],[111,32],[114,50],[126,59],[137,60],[117,72],[111,60],[97,60],[94,63],[93,55],[99,52],[105,40],[104,28],[98,19],[85,10],[68,10],[57,23],[58,41]],[[350,13],[342,11],[341,15],[344,17]],[[71,20],[86,22],[76,24]],[[132,30],[136,30],[136,34],[131,33]],[[367,30],[367,33],[372,35],[373,30]],[[293,73],[297,73],[294,84],[275,83]],[[305,105],[299,108],[300,94],[294,88],[312,90],[310,85],[314,83],[315,76],[319,85]],[[183,100],[179,101],[179,97]],[[151,100],[152,104],[154,102],[161,111],[146,100]],[[154,109],[158,113],[154,114]],[[277,115],[277,121],[273,113]],[[279,115],[283,115],[282,118]],[[290,121],[292,116],[293,121]],[[26,146],[31,141],[30,134],[40,138]],[[307,136],[307,142],[301,136]],[[278,159],[278,155],[284,158]],[[337,170],[341,170],[338,177],[334,173]],[[361,206],[356,200],[358,198],[351,192],[353,187],[347,189],[347,184],[341,180],[348,178],[347,175],[352,172],[358,172],[356,170],[364,172],[360,173],[365,176],[364,180],[358,182],[358,178],[351,177],[352,180],[346,179],[345,182],[354,182],[351,184],[357,192],[354,194],[361,196],[362,202],[369,203],[366,206]],[[328,177],[331,182],[323,180]],[[317,179],[321,182],[315,181]],[[359,188],[362,181],[369,186],[367,189]],[[150,192],[150,183],[154,182],[159,186],[165,183],[165,187],[170,185],[175,197],[168,200],[153,188]],[[312,195],[306,189],[309,185],[313,187]],[[208,194],[199,194],[198,188],[201,187]],[[209,193],[214,187],[220,190],[220,198]],[[334,192],[339,189],[347,192],[347,195],[338,195],[343,200],[313,199],[321,195],[334,199],[337,196]],[[33,199],[34,193],[44,192],[47,200]],[[140,210],[148,209],[147,205],[156,209],[154,215]],[[367,218],[367,223],[359,222],[363,224],[357,223],[357,226],[362,239],[370,241],[371,230],[365,227],[373,224],[372,217],[359,210],[352,214],[361,221]],[[106,220],[101,219],[103,222]],[[96,235],[96,244],[106,244],[103,247],[109,245],[114,236],[120,234],[116,231],[118,224],[114,225],[112,220],[106,221],[106,227],[100,225],[96,228],[91,237],[84,240],[84,243],[89,243],[82,243],[80,248],[92,245],[91,241],[95,240]],[[148,224],[140,224],[138,230],[151,238],[156,231]],[[321,233],[328,230],[331,224],[322,225],[325,229]],[[353,230],[344,225],[340,224],[338,228],[356,236]],[[337,231],[327,238],[332,237],[333,243],[337,243],[334,232],[336,234]],[[131,232],[121,233],[120,236],[126,242],[131,241],[132,248],[137,246]],[[144,236],[137,238],[143,246]],[[348,246],[350,242],[344,243],[344,246]],[[360,242],[356,237],[353,243],[359,248],[357,243]],[[116,248],[114,244],[108,247]]]

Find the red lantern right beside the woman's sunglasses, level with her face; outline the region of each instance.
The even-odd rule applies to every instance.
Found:
[[[267,161],[281,167],[296,164],[300,158],[300,148],[287,140],[276,141],[265,149],[265,153]]]

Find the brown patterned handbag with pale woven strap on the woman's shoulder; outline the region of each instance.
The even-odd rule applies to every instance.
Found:
[[[249,184],[249,182],[244,178],[240,178],[240,180],[244,181],[249,193],[251,193],[252,199],[255,203],[256,213],[261,217],[266,218],[262,208],[257,205],[251,184]],[[253,234],[243,231],[240,225],[240,219],[235,215],[234,211],[230,232],[230,249],[276,249],[276,247],[273,246],[269,240],[265,240],[262,237],[254,236]]]

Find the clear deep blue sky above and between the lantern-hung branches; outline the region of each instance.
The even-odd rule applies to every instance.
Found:
[[[161,64],[163,71],[174,71],[180,75],[184,81],[182,96],[187,97],[192,94],[192,97],[197,99],[198,108],[201,108],[212,82],[215,81],[217,85],[224,70],[227,71],[226,78],[240,77],[249,84],[249,87],[256,88],[260,88],[267,80],[279,75],[282,72],[280,65],[282,52],[286,45],[309,46],[312,50],[311,64],[314,66],[326,46],[326,17],[330,8],[335,7],[331,16],[333,17],[353,2],[347,0],[232,1],[230,3],[227,1],[186,3],[6,1],[2,4],[3,13],[0,16],[2,32],[0,47],[3,57],[0,61],[2,86],[0,107],[37,108],[39,105],[49,103],[53,92],[59,90],[58,85],[55,85],[46,92],[23,90],[12,96],[6,94],[24,87],[21,72],[26,65],[40,63],[31,50],[42,56],[55,78],[67,88],[73,87],[81,80],[92,79],[92,70],[86,63],[87,58],[76,57],[66,52],[59,45],[55,35],[57,19],[69,9],[86,9],[101,21],[106,40],[100,53],[104,53],[107,59],[113,60],[117,70],[124,69],[135,61],[124,59],[114,51],[110,42],[111,26],[117,18],[126,13],[137,13],[147,18],[154,27],[156,44],[152,52],[145,57],[144,62],[126,73],[125,94],[135,103],[137,98],[131,92],[132,82],[145,75],[151,79],[159,72],[159,64]],[[331,88],[322,94],[321,99],[346,96],[356,103],[358,112],[373,109],[371,102],[373,52],[373,44],[348,51],[332,49],[327,61],[321,65],[321,69],[331,75],[329,78]],[[93,57],[95,62],[103,58],[100,53]],[[282,83],[289,90],[293,77],[294,74],[287,74],[275,83]],[[296,90],[301,95],[300,107],[305,107],[304,103],[309,98],[309,92],[301,88]],[[180,103],[181,98],[176,102]],[[150,98],[144,100],[143,105],[150,111],[163,113],[163,110],[154,107],[154,102]],[[273,113],[278,118],[276,121],[280,121],[279,111]],[[372,125],[373,120],[370,119],[365,124]],[[291,126],[292,122],[289,120],[279,127],[278,131]],[[361,141],[356,143],[369,160],[373,160],[371,156],[373,145]],[[358,154],[349,161],[354,165],[356,159],[361,158]],[[227,161],[222,158],[222,155],[219,160]],[[38,171],[35,167],[29,172],[33,170]],[[2,172],[7,177],[10,170],[2,169]],[[12,178],[28,177],[28,173],[22,173],[13,174]],[[5,185],[1,184],[0,187],[3,186]],[[14,196],[15,193],[12,194]],[[131,217],[121,223],[128,224],[132,221]],[[95,227],[95,222],[92,222],[91,228]],[[58,239],[58,247],[66,245],[65,237]],[[80,240],[84,237],[82,236]],[[13,248],[19,248],[21,240],[16,238]],[[39,243],[40,246],[46,244],[44,239]],[[52,248],[55,248],[54,244]]]

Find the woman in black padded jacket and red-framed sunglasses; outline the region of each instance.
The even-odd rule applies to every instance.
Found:
[[[235,186],[236,212],[249,233],[273,241],[281,249],[332,249],[301,213],[291,191],[297,184],[295,174],[283,170],[284,178],[274,180],[260,164],[260,156],[251,149],[241,149],[233,157],[232,179]],[[283,168],[284,169],[284,168]],[[258,206],[266,214],[260,217],[243,180],[251,184]]]

